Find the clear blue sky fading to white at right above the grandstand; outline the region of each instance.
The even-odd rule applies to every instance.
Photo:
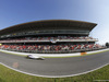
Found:
[[[109,42],[109,0],[0,0],[0,30],[56,19],[97,23],[90,36],[99,44]]]

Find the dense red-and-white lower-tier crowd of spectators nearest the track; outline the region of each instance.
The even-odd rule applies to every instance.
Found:
[[[26,51],[26,52],[73,52],[81,50],[94,50],[105,48],[98,44],[82,45],[1,45],[0,49]]]

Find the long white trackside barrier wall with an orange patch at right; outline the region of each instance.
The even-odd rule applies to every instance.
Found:
[[[9,50],[2,50],[2,52],[8,52],[8,54],[14,54],[14,55],[22,55],[22,56],[27,56],[27,55],[37,55],[41,57],[70,57],[70,56],[83,56],[86,54],[95,54],[95,52],[100,52],[100,51],[106,51],[109,50],[107,49],[101,49],[101,50],[95,50],[95,51],[83,51],[83,52],[74,52],[74,54],[29,54],[29,52],[17,52],[17,51],[9,51]]]

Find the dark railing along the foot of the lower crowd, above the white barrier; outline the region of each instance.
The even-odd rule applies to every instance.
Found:
[[[31,54],[72,54],[72,52],[81,52],[81,51],[93,51],[93,50],[99,50],[99,49],[105,49],[106,47],[102,48],[85,48],[85,49],[74,49],[74,50],[16,50],[16,49],[4,49],[4,50],[11,50],[11,51],[20,51],[20,52],[31,52]],[[1,48],[2,49],[2,48]]]

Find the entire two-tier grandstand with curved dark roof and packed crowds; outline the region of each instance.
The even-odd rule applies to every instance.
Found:
[[[0,31],[0,49],[22,52],[61,54],[102,49],[89,37],[95,23],[73,20],[45,20]]]

